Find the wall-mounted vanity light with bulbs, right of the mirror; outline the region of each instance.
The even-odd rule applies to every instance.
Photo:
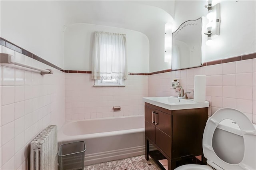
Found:
[[[206,45],[212,44],[212,36],[220,35],[220,3],[212,6],[212,0],[207,1],[208,5],[204,6],[208,9],[208,14],[206,18],[208,19],[208,24],[206,25],[207,35]]]

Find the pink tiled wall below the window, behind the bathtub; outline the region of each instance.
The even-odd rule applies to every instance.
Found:
[[[65,73],[66,120],[144,115],[148,76],[128,75],[126,87],[93,87],[91,74]],[[121,111],[113,112],[113,106]]]

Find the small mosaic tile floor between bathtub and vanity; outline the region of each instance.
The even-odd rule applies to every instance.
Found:
[[[84,170],[160,170],[160,168],[151,158],[147,161],[145,155],[141,155],[85,166]]]

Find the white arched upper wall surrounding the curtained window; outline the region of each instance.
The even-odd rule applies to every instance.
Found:
[[[74,24],[65,29],[64,69],[91,71],[92,40],[96,31],[126,34],[128,72],[148,73],[149,42],[144,34],[94,24]]]

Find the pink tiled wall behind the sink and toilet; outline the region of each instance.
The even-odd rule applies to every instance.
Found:
[[[148,96],[176,96],[171,88],[174,78],[185,92],[194,86],[194,75],[206,75],[206,101],[210,102],[208,115],[218,109],[231,107],[244,112],[256,124],[256,59],[246,59],[192,69],[171,71],[148,76]],[[193,98],[193,94],[188,95]]]

